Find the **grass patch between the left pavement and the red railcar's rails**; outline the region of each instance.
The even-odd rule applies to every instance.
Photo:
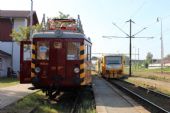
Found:
[[[58,113],[56,110],[57,106],[50,104],[47,101],[44,101],[45,94],[42,91],[37,91],[33,94],[30,94],[23,99],[19,100],[15,104],[7,106],[3,109],[2,113],[27,113],[33,108],[37,108],[36,113]]]

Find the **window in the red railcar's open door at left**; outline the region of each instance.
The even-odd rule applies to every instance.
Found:
[[[31,45],[30,44],[24,44],[24,61],[31,60]]]

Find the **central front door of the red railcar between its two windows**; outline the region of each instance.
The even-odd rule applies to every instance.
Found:
[[[50,49],[50,76],[53,80],[65,79],[66,49],[63,40],[51,42]]]

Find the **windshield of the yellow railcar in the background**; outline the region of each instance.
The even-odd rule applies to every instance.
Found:
[[[106,64],[121,64],[121,56],[108,56],[106,57]]]

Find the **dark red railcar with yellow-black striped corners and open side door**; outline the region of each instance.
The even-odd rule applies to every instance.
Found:
[[[74,19],[54,21],[67,22],[67,26],[53,25],[48,31],[34,33],[32,42],[21,42],[20,82],[32,83],[50,97],[91,83],[90,39],[77,24],[70,27],[68,22],[76,22]]]

